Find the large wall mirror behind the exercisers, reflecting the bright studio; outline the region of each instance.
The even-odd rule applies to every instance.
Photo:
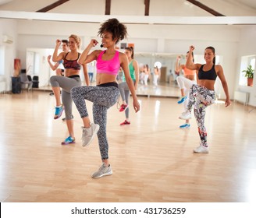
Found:
[[[27,75],[39,76],[40,89],[42,90],[51,90],[49,79],[55,75],[55,71],[48,65],[47,58],[52,53],[53,49],[27,48]],[[134,58],[140,67],[137,94],[146,97],[180,97],[180,90],[176,83],[177,74],[175,72],[177,56],[180,56],[180,63],[185,64],[186,52],[184,54],[135,53]],[[195,62],[204,62],[203,55],[194,55],[194,58]],[[94,85],[96,76],[95,63],[93,62],[87,69],[88,73],[91,74],[91,84]],[[182,71],[180,75],[183,75]],[[84,81],[83,72],[81,72],[80,77]],[[119,78],[122,78],[122,76],[119,75]]]

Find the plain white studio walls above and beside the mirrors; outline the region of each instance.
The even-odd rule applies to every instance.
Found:
[[[12,23],[12,25],[9,25]],[[16,24],[17,23],[17,24]],[[26,62],[27,47],[53,48],[56,38],[67,38],[71,33],[82,38],[82,48],[92,37],[97,36],[98,23],[69,23],[48,22],[34,20],[10,21],[0,19],[0,25],[17,27],[17,57],[8,55],[6,59],[12,62],[13,58],[21,58],[22,64]],[[11,28],[12,29],[12,28]],[[128,40],[135,44],[135,51],[147,53],[185,54],[190,44],[196,47],[195,55],[203,55],[204,48],[213,46],[216,55],[222,56],[220,63],[229,84],[230,97],[238,89],[237,73],[240,70],[240,57],[242,55],[255,55],[254,38],[255,26],[231,25],[142,25],[128,24]],[[2,31],[2,28],[0,29]],[[1,33],[1,32],[0,32]],[[11,72],[9,69],[7,72]],[[240,87],[239,87],[240,88]],[[242,89],[247,87],[242,87]],[[222,86],[217,81],[217,93],[225,98]],[[250,92],[255,93],[255,86]],[[252,96],[252,95],[251,95]],[[256,100],[251,99],[250,104],[255,105]]]

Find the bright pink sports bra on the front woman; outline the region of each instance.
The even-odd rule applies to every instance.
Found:
[[[98,55],[96,69],[97,73],[106,73],[109,75],[117,75],[120,69],[120,61],[119,61],[119,51],[116,51],[114,58],[108,61],[102,60],[102,55],[104,51],[101,51],[100,55]]]

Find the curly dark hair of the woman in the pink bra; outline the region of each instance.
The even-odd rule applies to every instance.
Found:
[[[119,23],[116,18],[108,19],[105,23],[102,23],[101,28],[98,30],[98,36],[102,36],[105,31],[112,33],[112,40],[117,39],[116,44],[119,40],[127,38],[126,26],[123,23]]]

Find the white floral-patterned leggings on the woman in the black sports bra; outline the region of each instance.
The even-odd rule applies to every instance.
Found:
[[[215,102],[215,91],[208,90],[203,86],[194,84],[190,89],[187,110],[191,112],[194,105],[194,117],[197,121],[197,127],[202,146],[207,145],[207,132],[204,126],[205,108]]]

